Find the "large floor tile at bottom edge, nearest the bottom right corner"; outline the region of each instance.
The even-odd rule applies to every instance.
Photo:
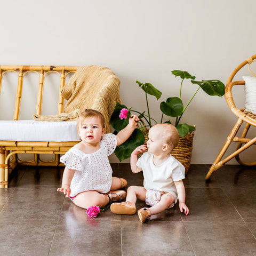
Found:
[[[196,256],[254,256],[256,241],[244,223],[185,222]]]

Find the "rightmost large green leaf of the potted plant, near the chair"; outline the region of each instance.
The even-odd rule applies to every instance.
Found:
[[[207,94],[214,96],[223,96],[225,94],[225,85],[219,80],[202,80],[193,81],[191,83],[198,84]]]

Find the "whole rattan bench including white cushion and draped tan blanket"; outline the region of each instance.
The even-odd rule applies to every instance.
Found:
[[[8,176],[17,165],[63,166],[60,155],[79,142],[76,119],[83,110],[100,111],[106,119],[106,132],[110,132],[107,119],[116,102],[121,102],[119,85],[120,79],[107,67],[0,65],[0,188],[8,186]],[[13,103],[6,101],[6,88],[11,95],[16,93]],[[31,96],[32,90],[35,92]],[[22,108],[21,98],[29,105],[27,109]],[[52,101],[55,105],[50,107]],[[3,106],[3,102],[11,107]],[[5,112],[11,113],[11,108],[14,115],[6,117]],[[62,117],[68,122],[59,122]],[[21,160],[20,154],[27,153],[33,154],[33,159]],[[54,154],[54,159],[41,159],[41,154]]]

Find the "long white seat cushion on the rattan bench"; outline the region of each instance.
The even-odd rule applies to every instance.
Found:
[[[0,121],[0,140],[79,141],[76,121],[40,122],[35,120]]]

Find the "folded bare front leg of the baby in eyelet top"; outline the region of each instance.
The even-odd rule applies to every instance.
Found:
[[[98,205],[99,207],[104,207],[109,203],[109,197],[106,194],[100,194],[97,191],[84,191],[79,193],[74,198],[74,204],[84,209],[89,206]]]

